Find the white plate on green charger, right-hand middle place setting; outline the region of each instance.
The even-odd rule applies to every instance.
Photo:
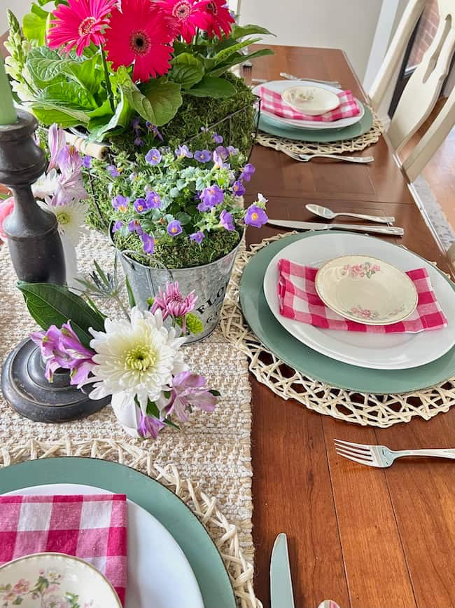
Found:
[[[325,330],[280,315],[276,294],[279,259],[283,257],[297,264],[321,268],[332,257],[358,254],[377,257],[402,271],[426,268],[437,301],[447,317],[447,327],[419,333],[365,334]],[[286,331],[311,349],[344,363],[379,370],[405,370],[430,363],[455,344],[455,292],[449,283],[430,262],[372,236],[328,233],[295,241],[271,260],[265,271],[263,288],[270,310]]]

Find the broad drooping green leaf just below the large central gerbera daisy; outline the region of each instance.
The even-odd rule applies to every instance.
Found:
[[[117,71],[118,84],[130,105],[146,121],[156,126],[165,125],[176,115],[182,104],[181,86],[165,79],[151,80],[144,93],[134,84],[124,66]]]

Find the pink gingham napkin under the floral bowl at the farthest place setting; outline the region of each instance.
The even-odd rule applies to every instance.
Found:
[[[274,114],[275,116],[281,116],[283,119],[331,123],[333,121],[339,121],[339,119],[348,119],[351,118],[351,116],[358,116],[358,114],[360,114],[360,108],[350,90],[342,90],[337,93],[337,97],[339,97],[339,106],[331,112],[325,112],[325,114],[320,114],[319,116],[307,116],[306,114],[302,114],[302,112],[291,108],[288,104],[283,102],[281,93],[276,93],[276,91],[270,90],[266,86],[260,87],[259,95],[261,109],[270,114]]]

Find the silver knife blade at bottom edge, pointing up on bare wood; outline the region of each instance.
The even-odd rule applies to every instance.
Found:
[[[272,608],[294,608],[288,539],[283,532],[276,536],[270,559],[270,605]]]

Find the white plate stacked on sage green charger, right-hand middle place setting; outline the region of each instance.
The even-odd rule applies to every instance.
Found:
[[[326,330],[279,313],[279,259],[321,267],[329,259],[365,255],[402,271],[425,268],[448,325],[419,333]],[[364,393],[402,393],[455,376],[455,286],[433,264],[386,241],[324,231],[282,238],[249,262],[240,285],[241,308],[260,341],[307,377]]]

